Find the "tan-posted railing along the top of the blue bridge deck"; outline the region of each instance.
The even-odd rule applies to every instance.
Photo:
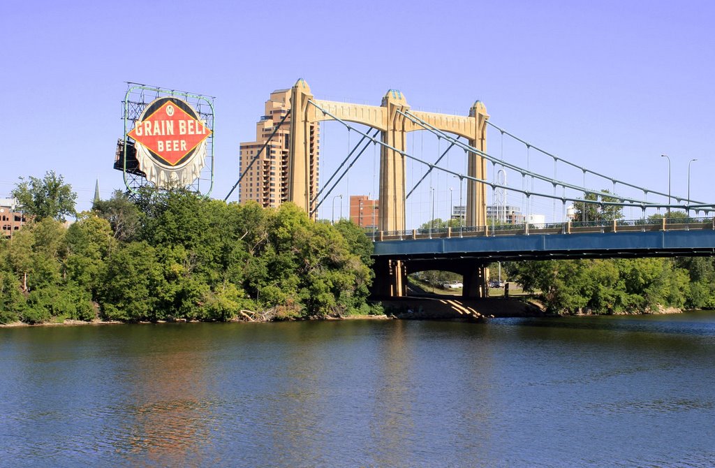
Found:
[[[593,220],[567,223],[503,224],[487,226],[458,226],[434,229],[373,231],[366,234],[378,240],[410,240],[431,238],[460,238],[475,236],[571,234],[571,233],[626,233],[659,230],[715,230],[715,218],[656,218],[639,220]]]

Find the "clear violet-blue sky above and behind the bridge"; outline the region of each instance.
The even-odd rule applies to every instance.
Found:
[[[379,105],[388,89],[400,89],[413,109],[455,114],[480,99],[491,122],[532,145],[661,192],[668,191],[666,154],[674,195],[686,195],[689,160],[697,159],[691,198],[715,203],[712,24],[715,4],[706,0],[6,0],[0,198],[19,177],[48,170],[71,184],[78,210],[91,206],[96,180],[102,198],[123,189],[112,164],[126,82],[137,82],[216,98],[211,195],[223,199],[239,176],[240,142],[255,140],[270,92],[304,78],[319,99]],[[359,135],[336,122],[321,131],[327,177]],[[425,133],[410,135],[408,150],[435,159],[445,142]],[[526,165],[524,147],[502,147],[498,132],[490,130],[488,151]],[[348,195],[376,198],[377,153],[365,152],[326,198],[321,218],[347,215]],[[530,157],[532,169],[553,176],[548,157]],[[463,152],[447,159],[463,168]],[[417,166],[408,163],[408,188],[424,171]],[[579,171],[557,176],[583,182]],[[507,178],[528,184],[516,173]],[[586,185],[611,189],[606,180]],[[433,212],[447,217],[458,192],[454,177],[429,177],[408,200],[408,227]],[[490,201],[495,195],[488,190]],[[523,204],[515,192],[507,200]],[[561,202],[546,199],[528,210],[548,220],[563,215]]]

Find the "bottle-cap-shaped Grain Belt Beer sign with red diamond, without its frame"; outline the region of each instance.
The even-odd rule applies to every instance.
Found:
[[[190,185],[206,159],[211,130],[182,99],[154,99],[127,136],[137,144],[139,169],[162,188]]]

